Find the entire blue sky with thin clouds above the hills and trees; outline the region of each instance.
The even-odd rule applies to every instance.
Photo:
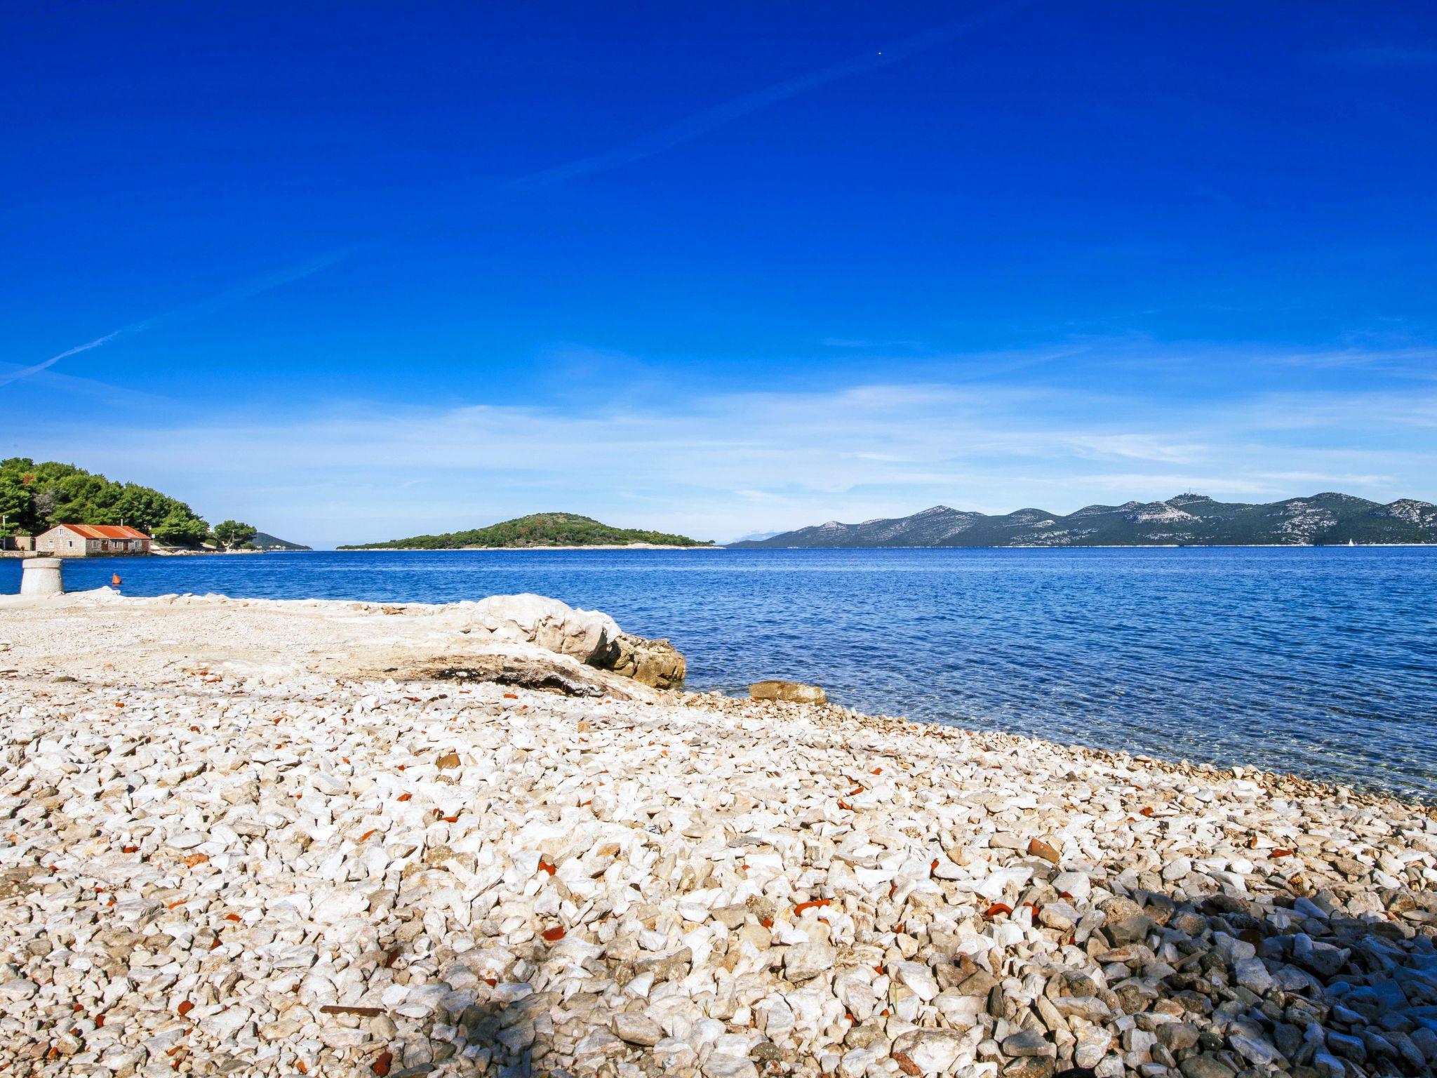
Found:
[[[1437,500],[1426,6],[33,4],[0,128],[0,453],[211,520]]]

